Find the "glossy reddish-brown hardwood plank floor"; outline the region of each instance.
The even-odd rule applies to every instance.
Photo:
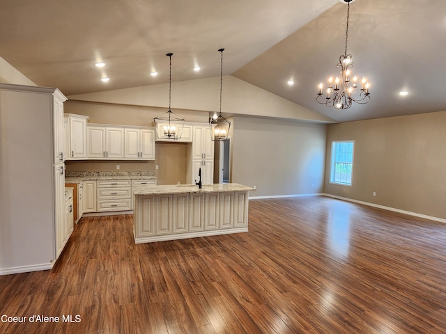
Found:
[[[54,269],[0,276],[0,316],[27,317],[0,333],[446,333],[445,283],[446,224],[332,198],[153,244],[132,215],[82,218]]]

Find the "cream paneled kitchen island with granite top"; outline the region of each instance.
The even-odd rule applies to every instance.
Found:
[[[248,197],[242,184],[151,186],[134,191],[134,242],[247,232]]]

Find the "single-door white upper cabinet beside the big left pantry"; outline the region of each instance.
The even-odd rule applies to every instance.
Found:
[[[68,122],[66,126],[66,138],[68,139],[68,156],[66,159],[86,159],[86,123],[89,116],[74,115],[66,113],[64,120]]]

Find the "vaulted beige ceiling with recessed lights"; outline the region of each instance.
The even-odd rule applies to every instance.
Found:
[[[348,53],[371,102],[316,103],[344,54],[346,9],[338,0],[3,0],[0,56],[39,86],[75,95],[165,83],[167,52],[173,81],[219,76],[224,47],[224,74],[334,120],[445,111],[445,0],[351,3]]]

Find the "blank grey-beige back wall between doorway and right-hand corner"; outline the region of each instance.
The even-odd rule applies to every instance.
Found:
[[[234,117],[231,182],[256,186],[250,196],[321,193],[326,125]]]

